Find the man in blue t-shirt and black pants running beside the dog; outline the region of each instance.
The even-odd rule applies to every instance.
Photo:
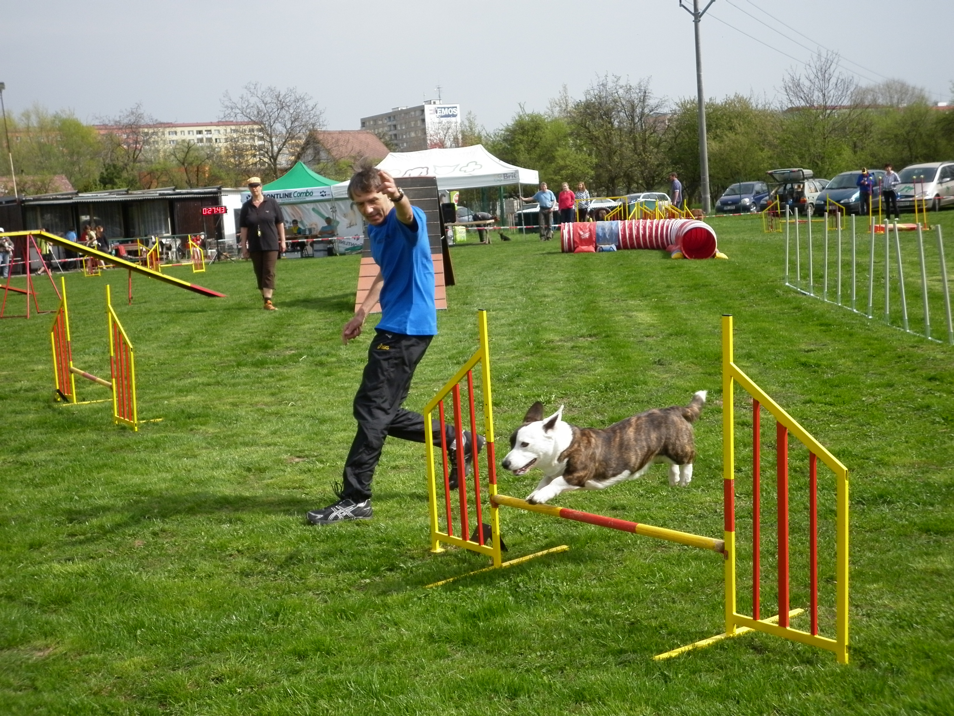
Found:
[[[344,463],[338,501],[308,513],[312,524],[332,524],[371,518],[371,479],[388,435],[425,442],[424,416],[405,411],[414,369],[437,333],[434,303],[434,263],[427,241],[424,211],[404,196],[386,172],[373,167],[359,170],[348,184],[348,196],[367,221],[367,238],[378,273],[354,318],[344,325],[342,341],[362,333],[364,319],[381,304],[381,321],[368,347],[361,387],[354,399],[358,432]],[[434,421],[435,444],[441,444],[440,424]],[[456,429],[445,426],[450,458],[457,447]],[[473,461],[473,440],[464,433],[466,470]],[[485,439],[477,436],[477,452]],[[456,465],[454,460],[450,460]],[[451,487],[457,486],[456,467]]]

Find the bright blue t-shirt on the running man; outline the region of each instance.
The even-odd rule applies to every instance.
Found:
[[[368,224],[371,256],[381,268],[381,322],[378,328],[409,336],[437,335],[434,262],[424,211],[412,206],[416,226],[398,221],[391,209],[380,226]]]

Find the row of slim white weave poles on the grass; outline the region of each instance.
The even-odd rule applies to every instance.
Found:
[[[813,221],[811,216],[799,220],[798,210],[786,212],[785,285],[866,318],[878,317],[907,333],[954,346],[941,226],[878,224],[839,213],[831,216],[833,221],[828,219],[826,214],[824,220]],[[920,309],[915,303],[908,311],[905,286],[913,289],[912,301],[921,299]],[[944,324],[940,328],[938,317]]]

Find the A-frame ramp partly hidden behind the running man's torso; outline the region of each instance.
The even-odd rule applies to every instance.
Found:
[[[434,300],[437,307],[447,307],[446,286],[454,284],[454,272],[447,250],[444,221],[441,218],[441,204],[437,191],[436,177],[398,177],[394,179],[398,188],[404,191],[407,199],[424,211],[427,217],[427,240],[430,242],[430,258],[434,262]],[[371,245],[367,237],[361,254],[361,268],[358,270],[358,291],[355,295],[355,310],[362,305],[364,297],[378,274],[378,264],[371,258]],[[380,313],[381,305],[375,304],[372,313]]]

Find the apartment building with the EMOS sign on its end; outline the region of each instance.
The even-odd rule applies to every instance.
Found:
[[[461,106],[427,99],[415,107],[364,116],[361,128],[390,139],[399,152],[456,147],[461,143]]]

